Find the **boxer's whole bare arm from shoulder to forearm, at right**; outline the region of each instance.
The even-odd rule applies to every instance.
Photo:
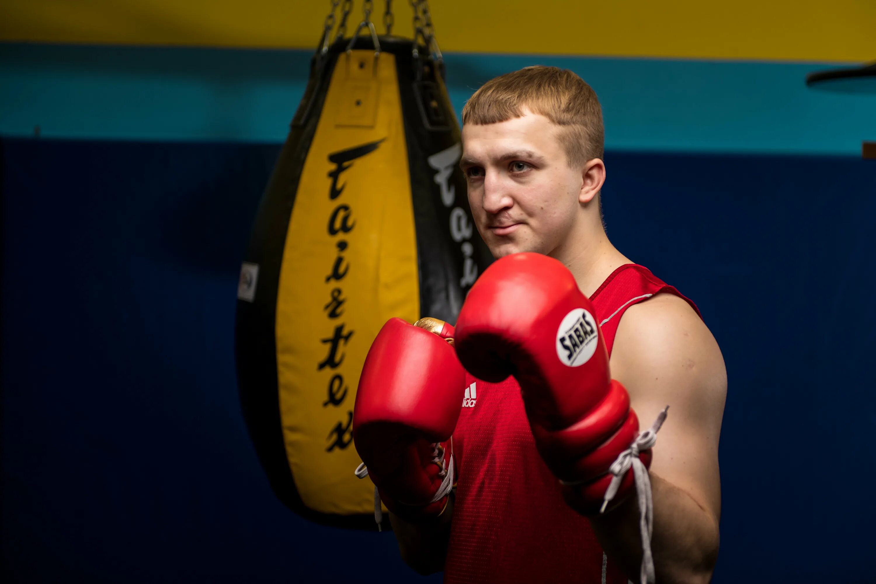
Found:
[[[717,446],[727,391],[717,342],[684,300],[661,294],[625,313],[611,372],[629,391],[643,430],[669,405],[650,469],[657,580],[708,582],[718,550]],[[605,552],[637,580],[642,552],[635,498],[591,523]]]

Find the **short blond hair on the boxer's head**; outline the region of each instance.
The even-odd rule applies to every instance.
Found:
[[[559,67],[536,65],[484,83],[463,107],[463,124],[498,123],[526,107],[561,127],[570,166],[603,158],[605,130],[597,94],[581,77]]]

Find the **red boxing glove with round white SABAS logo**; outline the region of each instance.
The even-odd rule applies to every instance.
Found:
[[[503,257],[471,287],[456,322],[456,354],[487,382],[516,377],[535,446],[584,515],[599,512],[609,467],[639,435],[623,385],[611,379],[593,306],[559,261]],[[639,455],[646,466],[651,451]],[[626,473],[612,505],[632,493]]]

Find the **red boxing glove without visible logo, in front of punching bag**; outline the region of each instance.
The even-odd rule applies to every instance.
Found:
[[[442,320],[415,325],[390,319],[365,358],[353,442],[379,499],[399,517],[437,517],[453,487],[450,436],[459,419],[465,371],[451,343],[453,327]],[[365,471],[364,467],[367,467]],[[375,518],[380,523],[380,501]]]

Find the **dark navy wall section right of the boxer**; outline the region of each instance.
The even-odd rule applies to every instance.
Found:
[[[872,581],[876,162],[606,167],[612,242],[696,301],[727,364],[713,581]]]

